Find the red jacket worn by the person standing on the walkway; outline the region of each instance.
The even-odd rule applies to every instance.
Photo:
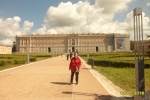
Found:
[[[70,65],[69,65],[69,69],[71,69],[71,72],[75,72],[76,71],[76,67],[80,68],[81,66],[81,60],[80,58],[75,58],[73,57],[70,61]]]

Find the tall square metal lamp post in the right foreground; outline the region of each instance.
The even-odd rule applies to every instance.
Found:
[[[145,78],[144,78],[144,44],[143,44],[143,19],[142,8],[133,10],[134,17],[134,52],[135,52],[135,75],[136,75],[136,94],[135,100],[141,100],[145,94]]]

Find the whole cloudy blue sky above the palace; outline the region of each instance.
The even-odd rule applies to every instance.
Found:
[[[0,44],[28,34],[127,33],[133,40],[137,7],[147,39],[150,0],[0,0]]]

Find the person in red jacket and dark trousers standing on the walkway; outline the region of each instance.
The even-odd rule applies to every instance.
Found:
[[[81,60],[78,57],[78,53],[74,53],[74,57],[71,59],[70,64],[69,64],[69,70],[71,70],[71,78],[70,78],[70,84],[73,84],[73,78],[75,74],[75,80],[76,80],[76,85],[78,85],[78,80],[79,80],[79,71],[81,67]]]

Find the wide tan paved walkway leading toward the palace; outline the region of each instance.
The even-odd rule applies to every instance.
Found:
[[[54,57],[0,71],[0,100],[125,100],[83,60],[79,84],[68,85],[69,63]]]

